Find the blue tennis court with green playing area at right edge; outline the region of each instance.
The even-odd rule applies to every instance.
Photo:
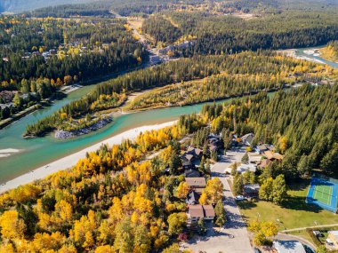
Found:
[[[320,178],[319,178],[320,177]],[[337,213],[338,180],[317,176],[311,179],[306,202]]]

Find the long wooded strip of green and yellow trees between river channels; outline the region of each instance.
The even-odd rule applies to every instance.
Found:
[[[100,115],[102,111],[119,107],[130,92],[169,83],[182,82],[165,86],[159,91],[150,91],[140,99],[135,99],[127,109],[164,107],[168,106],[167,102],[185,105],[224,99],[262,90],[282,89],[297,82],[334,82],[337,75],[334,68],[286,58],[270,51],[179,59],[101,83],[83,99],[74,101],[54,115],[29,125],[26,134],[41,136],[49,130],[71,130],[69,125],[74,119],[90,119],[91,115]],[[210,77],[200,81],[207,76]],[[190,80],[195,81],[189,82]]]

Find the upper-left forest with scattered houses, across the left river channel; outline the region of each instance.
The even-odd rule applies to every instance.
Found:
[[[49,98],[65,84],[136,67],[148,54],[123,20],[4,16],[0,40],[0,91],[29,94],[20,107],[1,110],[1,118]]]

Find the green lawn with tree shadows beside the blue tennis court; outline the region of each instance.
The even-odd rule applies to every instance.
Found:
[[[308,181],[293,186],[288,191],[289,197],[282,206],[271,202],[238,202],[245,220],[258,219],[261,221],[274,221],[279,230],[311,226],[330,225],[338,223],[338,216],[327,210],[305,203],[309,188]],[[279,221],[278,221],[279,220]]]

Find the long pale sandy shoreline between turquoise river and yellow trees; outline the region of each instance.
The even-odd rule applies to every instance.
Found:
[[[111,138],[105,139],[101,141],[100,143],[97,143],[93,146],[89,146],[84,148],[81,151],[78,151],[74,154],[70,154],[66,157],[63,157],[55,162],[51,162],[49,164],[45,164],[44,166],[37,168],[36,170],[32,170],[26,174],[21,175],[18,178],[14,178],[8,182],[5,183],[4,186],[0,186],[0,194],[4,193],[5,191],[8,191],[10,189],[16,188],[21,185],[26,185],[28,183],[31,183],[37,179],[42,179],[47,177],[48,175],[55,173],[59,170],[67,170],[70,167],[73,167],[76,165],[76,162],[85,157],[85,154],[88,152],[96,151],[100,148],[102,144],[108,144],[109,146],[120,144],[124,139],[134,139],[136,138],[141,132],[144,132],[146,130],[159,130],[162,128],[165,128],[167,126],[171,126],[177,121],[169,122],[169,123],[161,123],[161,124],[155,124],[155,125],[147,125],[138,127],[132,130],[126,130],[125,132],[122,132],[120,134],[117,134],[116,136],[113,136]]]

